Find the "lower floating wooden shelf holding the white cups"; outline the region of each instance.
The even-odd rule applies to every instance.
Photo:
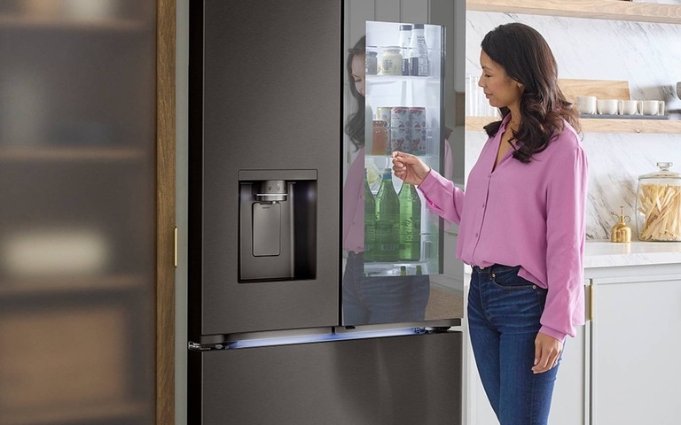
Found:
[[[482,131],[495,117],[466,117],[466,131]],[[627,120],[588,119],[580,120],[583,133],[681,133],[681,120]]]

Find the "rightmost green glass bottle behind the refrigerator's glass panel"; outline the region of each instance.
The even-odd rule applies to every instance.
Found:
[[[421,259],[421,200],[413,184],[404,182],[400,194],[400,259]]]

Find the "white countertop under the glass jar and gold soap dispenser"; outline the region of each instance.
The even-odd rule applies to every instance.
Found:
[[[681,242],[587,242],[584,268],[681,264]]]

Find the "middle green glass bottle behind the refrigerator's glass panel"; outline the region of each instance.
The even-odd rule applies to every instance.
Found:
[[[376,261],[397,261],[400,243],[400,201],[393,186],[390,168],[383,170],[379,193],[376,194]]]

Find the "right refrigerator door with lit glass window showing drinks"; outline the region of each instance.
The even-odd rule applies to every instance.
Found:
[[[462,315],[460,293],[435,290],[431,282],[443,271],[442,219],[427,209],[415,187],[395,177],[390,158],[393,151],[411,153],[451,177],[445,162],[450,135],[444,125],[446,29],[366,21],[365,35],[350,42],[344,325]]]

